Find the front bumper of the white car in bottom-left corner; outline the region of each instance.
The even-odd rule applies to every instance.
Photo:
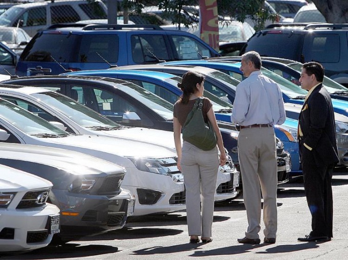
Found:
[[[49,216],[57,214],[59,208],[52,204],[40,208],[0,210],[0,232],[14,231],[13,236],[2,236],[0,252],[34,250],[47,246],[53,237],[49,230]]]

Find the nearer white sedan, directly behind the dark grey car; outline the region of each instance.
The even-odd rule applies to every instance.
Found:
[[[127,173],[121,187],[136,198],[135,216],[185,209],[184,183],[176,153],[170,149],[136,140],[71,134],[3,99],[0,111],[0,141],[74,150],[124,167]]]

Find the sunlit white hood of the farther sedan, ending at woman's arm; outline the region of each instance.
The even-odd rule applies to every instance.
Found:
[[[141,141],[142,143],[156,144],[163,147],[175,149],[173,132],[149,129],[143,127],[132,127],[112,131],[94,131],[95,133],[107,136],[121,137]]]

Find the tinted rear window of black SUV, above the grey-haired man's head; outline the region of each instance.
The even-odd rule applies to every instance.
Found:
[[[301,34],[285,34],[279,30],[274,30],[274,33],[256,33],[246,43],[241,54],[256,51],[260,56],[299,60],[302,38]]]

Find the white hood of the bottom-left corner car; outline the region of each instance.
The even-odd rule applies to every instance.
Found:
[[[0,192],[21,192],[53,185],[48,180],[7,166],[0,165],[0,171]]]

